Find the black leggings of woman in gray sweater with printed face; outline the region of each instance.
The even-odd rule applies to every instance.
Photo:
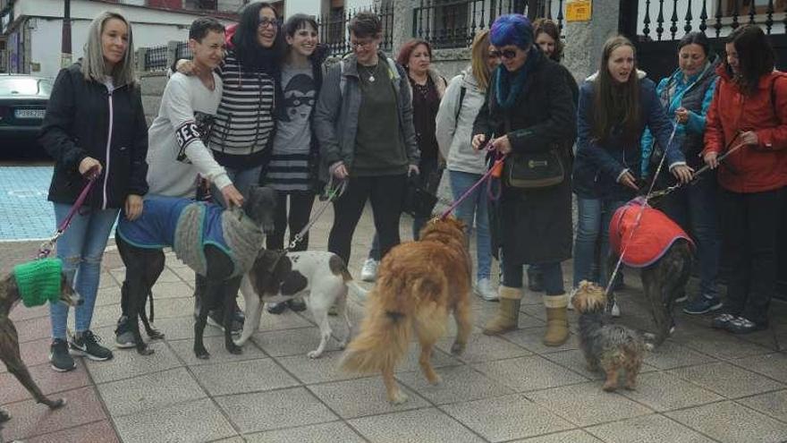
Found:
[[[287,197],[289,197],[290,200],[289,211],[287,210]],[[287,230],[288,226],[290,227],[290,242],[292,242],[295,234],[300,233],[300,230],[309,223],[312,206],[314,206],[314,192],[276,192],[275,230],[273,234],[266,236],[266,248],[273,250],[284,249],[284,232]],[[292,251],[306,251],[308,248],[309,233],[307,232],[303,235],[303,239],[300,243],[292,248]]]

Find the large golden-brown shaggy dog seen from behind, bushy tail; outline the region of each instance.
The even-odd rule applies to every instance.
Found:
[[[369,292],[360,335],[347,347],[345,371],[383,373],[388,400],[407,401],[393,380],[393,369],[407,353],[410,331],[419,337],[419,363],[430,383],[440,382],[429,358],[445,333],[453,311],[457,335],[451,347],[461,354],[472,325],[470,311],[470,255],[460,221],[432,219],[418,242],[393,248],[380,264],[377,285]]]

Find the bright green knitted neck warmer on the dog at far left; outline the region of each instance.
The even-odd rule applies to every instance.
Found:
[[[33,260],[13,267],[22,303],[32,308],[46,302],[58,302],[62,271],[63,261],[60,259]]]

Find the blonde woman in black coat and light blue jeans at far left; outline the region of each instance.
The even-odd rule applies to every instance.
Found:
[[[55,371],[76,367],[69,354],[109,360],[90,331],[106,241],[120,209],[140,216],[148,192],[148,126],[134,75],[131,25],[119,13],[101,13],[90,25],[85,55],[57,75],[39,141],[55,158],[48,200],[57,226],[72,210],[89,177],[87,200],[57,242],[57,257],[84,302],[75,309],[76,334],[66,342],[68,307],[50,304]],[[74,277],[76,276],[76,281]]]

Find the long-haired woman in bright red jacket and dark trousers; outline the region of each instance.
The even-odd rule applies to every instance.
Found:
[[[724,313],[712,326],[744,334],[767,328],[775,291],[778,215],[787,186],[787,74],[774,71],[774,50],[757,26],[732,32],[725,49],[703,151],[705,163],[719,167],[723,253],[730,267]]]

